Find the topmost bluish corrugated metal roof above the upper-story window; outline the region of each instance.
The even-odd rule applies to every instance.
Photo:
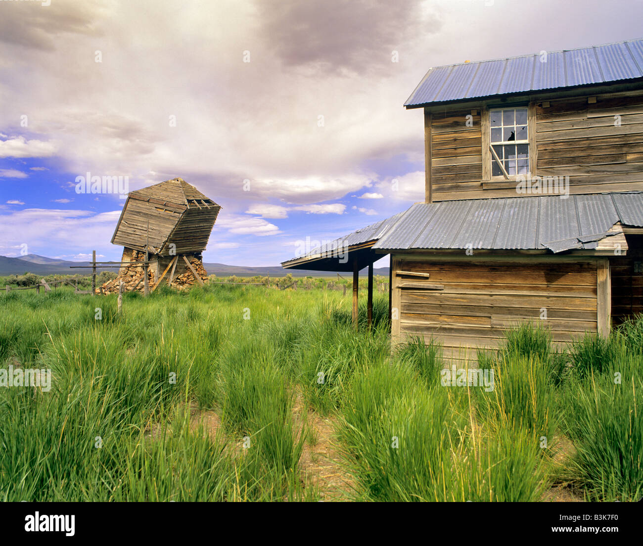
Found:
[[[544,59],[544,60],[543,60]],[[643,39],[430,68],[404,103],[464,100],[643,77]]]

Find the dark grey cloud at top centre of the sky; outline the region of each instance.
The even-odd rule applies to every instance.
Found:
[[[264,40],[285,66],[335,74],[390,67],[410,37],[438,32],[419,0],[258,0]]]

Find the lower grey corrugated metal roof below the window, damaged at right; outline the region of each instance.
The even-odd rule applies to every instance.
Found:
[[[560,252],[595,248],[618,222],[643,227],[643,192],[417,203],[373,248]]]

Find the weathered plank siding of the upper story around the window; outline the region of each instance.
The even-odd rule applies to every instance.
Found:
[[[589,97],[595,102],[589,102]],[[569,176],[570,193],[643,190],[643,92],[531,98],[538,176]],[[507,104],[510,106],[510,104]],[[478,113],[487,103],[481,102]],[[482,110],[481,110],[482,109]],[[431,113],[433,201],[516,194],[514,181],[484,180],[482,123],[470,109]],[[620,125],[615,125],[615,116]],[[530,127],[532,129],[532,127]]]

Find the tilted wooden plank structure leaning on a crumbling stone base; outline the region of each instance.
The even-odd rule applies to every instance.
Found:
[[[202,268],[201,253],[220,209],[197,188],[174,178],[129,192],[112,242],[124,247],[122,262],[141,262],[147,251],[152,286],[166,284],[193,274],[188,262],[192,269]],[[120,274],[128,270],[132,273],[123,268]]]

